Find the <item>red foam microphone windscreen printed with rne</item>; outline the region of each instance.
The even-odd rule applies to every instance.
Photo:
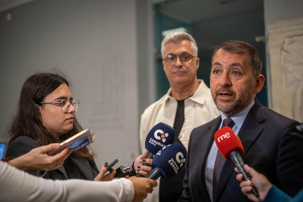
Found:
[[[227,161],[231,161],[228,155],[235,150],[238,150],[241,156],[243,156],[244,148],[241,140],[230,127],[222,127],[220,130],[215,132],[214,138],[218,150]]]

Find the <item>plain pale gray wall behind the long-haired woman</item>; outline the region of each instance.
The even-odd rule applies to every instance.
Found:
[[[11,22],[0,13],[0,138],[26,77],[59,66],[80,100],[78,120],[96,134],[97,166],[131,164],[139,151],[136,1],[44,0],[10,11]]]

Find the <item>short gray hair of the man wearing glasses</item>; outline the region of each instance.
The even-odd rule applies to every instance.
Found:
[[[164,37],[164,39],[162,40],[162,43],[161,43],[162,58],[165,57],[165,55],[164,55],[165,45],[167,43],[170,43],[170,42],[177,43],[177,42],[183,41],[185,39],[190,41],[191,51],[192,51],[192,53],[194,54],[195,57],[198,57],[198,47],[197,47],[195,39],[190,34],[184,32],[184,31],[178,31],[178,32],[173,32],[171,34],[166,35]]]

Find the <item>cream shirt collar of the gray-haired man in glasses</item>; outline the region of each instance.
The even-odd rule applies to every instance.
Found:
[[[195,93],[191,97],[186,98],[185,100],[192,100],[194,102],[197,102],[198,104],[204,105],[208,93],[208,87],[202,79],[198,79],[198,82],[199,86]],[[171,97],[171,88],[169,88],[162,102],[168,102],[171,99],[175,100],[175,98]]]

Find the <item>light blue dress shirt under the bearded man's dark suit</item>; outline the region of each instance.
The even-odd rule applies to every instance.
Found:
[[[245,109],[243,109],[238,114],[235,114],[231,117],[231,119],[235,122],[234,127],[232,127],[232,130],[235,132],[235,134],[238,135],[238,132],[240,131],[240,128],[241,128],[248,112],[251,110],[251,108],[254,104],[255,104],[255,99]],[[221,120],[218,130],[222,127],[223,120],[225,118],[227,118],[227,117],[221,112],[222,120]],[[205,183],[206,183],[207,191],[208,191],[211,201],[212,201],[212,177],[213,177],[213,173],[214,173],[214,166],[215,166],[217,152],[218,152],[218,147],[214,141],[211,146],[211,150],[208,154],[208,157],[207,157],[206,169],[205,169]]]

